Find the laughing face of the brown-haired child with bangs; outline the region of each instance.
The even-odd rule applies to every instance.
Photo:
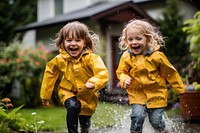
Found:
[[[67,53],[74,58],[78,58],[85,47],[84,40],[77,38],[66,38],[64,44]]]

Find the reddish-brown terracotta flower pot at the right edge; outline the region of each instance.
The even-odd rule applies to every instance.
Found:
[[[200,92],[186,92],[180,96],[180,111],[183,120],[200,120]]]

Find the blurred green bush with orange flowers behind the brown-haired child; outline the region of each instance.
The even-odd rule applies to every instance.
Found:
[[[2,48],[0,51],[0,91],[5,96],[18,97],[19,101],[23,101],[23,104],[28,107],[38,106],[41,78],[48,60],[47,53],[43,45],[38,45],[37,48],[21,49],[20,44],[15,42]],[[13,85],[15,88],[12,87]],[[11,95],[12,88],[15,91],[18,90],[19,96]]]

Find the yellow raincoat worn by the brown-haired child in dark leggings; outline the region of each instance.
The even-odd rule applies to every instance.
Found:
[[[61,102],[76,96],[81,102],[80,115],[92,115],[97,107],[98,91],[108,81],[108,70],[100,56],[86,50],[78,59],[72,58],[64,50],[46,64],[41,85],[41,99],[50,99],[59,75],[62,79],[58,87]],[[86,82],[95,84],[87,89]]]

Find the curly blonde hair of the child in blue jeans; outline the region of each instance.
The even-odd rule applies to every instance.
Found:
[[[161,46],[165,45],[164,38],[161,36],[158,28],[146,20],[131,20],[122,31],[122,36],[119,38],[119,48],[123,51],[128,48],[127,45],[127,30],[139,30],[145,35],[149,42],[148,48],[152,51],[158,50]]]

